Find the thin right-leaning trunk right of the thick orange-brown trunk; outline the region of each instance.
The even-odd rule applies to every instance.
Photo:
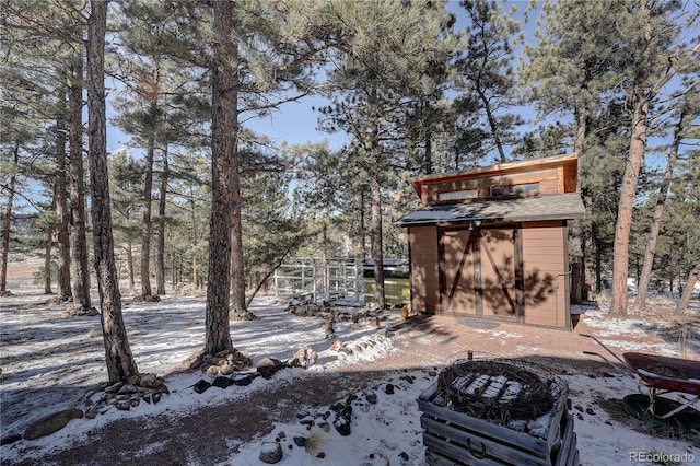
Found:
[[[668,197],[668,189],[673,182],[674,167],[676,160],[678,159],[678,148],[682,140],[682,133],[686,127],[688,118],[688,107],[686,105],[680,109],[680,118],[674,129],[674,140],[668,153],[668,164],[662,178],[661,187],[658,188],[658,199],[656,200],[656,207],[654,209],[654,217],[652,219],[652,226],[649,233],[649,242],[644,251],[644,266],[642,267],[642,273],[639,279],[639,293],[637,294],[637,304],[641,306],[646,305],[646,294],[649,293],[649,283],[652,278],[652,266],[654,264],[654,253],[656,252],[656,242],[658,241],[658,232],[661,231],[661,221],[664,217],[664,209],[666,207],[666,198]]]

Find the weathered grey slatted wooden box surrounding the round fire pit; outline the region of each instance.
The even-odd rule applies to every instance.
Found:
[[[436,383],[418,398],[419,409],[423,412],[420,422],[429,465],[579,465],[576,434],[573,431],[573,417],[567,409],[565,392],[552,408],[546,439],[517,432],[441,405],[444,401],[439,398]]]

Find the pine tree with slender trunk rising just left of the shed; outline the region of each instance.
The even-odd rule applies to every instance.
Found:
[[[339,58],[328,71],[331,104],[322,108],[322,128],[346,131],[351,144],[346,164],[370,206],[374,301],[385,305],[383,190],[396,182],[393,171],[406,142],[407,108],[419,94],[423,71],[448,57],[443,26],[450,21],[443,3],[335,2]]]

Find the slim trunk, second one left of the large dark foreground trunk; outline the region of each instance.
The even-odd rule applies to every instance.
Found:
[[[61,101],[66,102],[63,92],[61,92]],[[66,176],[67,131],[66,118],[61,115],[56,120],[56,187],[54,188],[58,220],[56,241],[58,243],[57,298],[59,301],[69,301],[73,298],[70,289],[70,211],[68,210]]]

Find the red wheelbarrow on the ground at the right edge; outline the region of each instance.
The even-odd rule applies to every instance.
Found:
[[[625,352],[620,359],[597,338],[581,336],[594,339],[637,377],[640,394],[623,398],[627,412],[674,430],[700,431],[700,412],[692,408],[700,401],[700,361],[642,352]],[[584,353],[595,354],[618,369],[599,353]],[[680,401],[661,396],[672,393],[677,394]]]

